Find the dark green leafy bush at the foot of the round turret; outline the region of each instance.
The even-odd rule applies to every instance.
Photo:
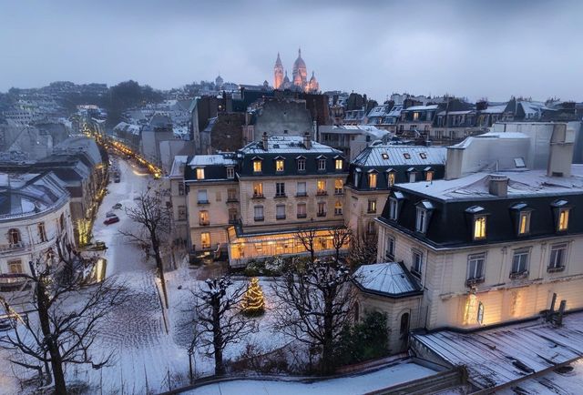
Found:
[[[338,366],[381,358],[389,353],[389,332],[385,313],[368,313],[362,322],[346,325],[336,347]]]

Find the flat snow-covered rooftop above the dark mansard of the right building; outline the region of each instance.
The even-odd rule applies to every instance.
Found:
[[[441,200],[471,200],[490,195],[490,177],[508,177],[508,197],[533,195],[569,195],[583,192],[583,165],[571,166],[571,177],[548,177],[546,170],[514,170],[494,173],[479,172],[456,179],[439,179],[431,183],[398,184],[404,191],[424,194]]]

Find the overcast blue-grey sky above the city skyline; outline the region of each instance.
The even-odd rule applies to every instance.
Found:
[[[322,90],[583,100],[583,1],[0,0],[0,91],[55,80],[273,83],[298,47]]]

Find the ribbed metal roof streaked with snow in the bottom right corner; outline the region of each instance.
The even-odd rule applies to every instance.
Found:
[[[464,365],[473,384],[495,388],[583,357],[581,326],[579,312],[568,314],[562,327],[541,319],[473,333],[442,330],[413,338],[452,365]]]

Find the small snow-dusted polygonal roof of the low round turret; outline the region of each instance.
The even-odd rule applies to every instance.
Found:
[[[396,262],[363,265],[354,273],[360,289],[400,297],[420,291],[417,282]]]

